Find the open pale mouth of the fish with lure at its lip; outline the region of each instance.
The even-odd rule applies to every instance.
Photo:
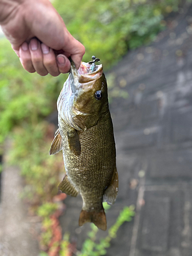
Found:
[[[71,86],[72,90],[81,88],[83,83],[88,83],[94,80],[99,79],[102,76],[103,68],[102,65],[95,65],[95,71],[89,73],[90,64],[87,62],[81,62],[79,69],[77,70],[73,60],[70,58],[71,61]]]

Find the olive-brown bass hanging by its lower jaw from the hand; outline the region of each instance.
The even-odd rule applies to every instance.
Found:
[[[70,74],[57,100],[58,130],[50,155],[63,153],[66,175],[58,188],[67,195],[82,197],[79,226],[93,222],[106,230],[102,203],[114,204],[118,193],[106,78],[102,65],[94,64],[93,69],[91,63],[81,62],[77,70],[70,60]]]

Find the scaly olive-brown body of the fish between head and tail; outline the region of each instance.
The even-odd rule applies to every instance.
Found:
[[[109,113],[106,113],[105,116],[104,121],[101,119],[97,125],[87,131],[78,132],[81,144],[80,156],[71,152],[67,133],[61,132],[66,173],[71,178],[72,183],[76,184],[80,194],[83,193],[82,196],[89,195],[91,192],[95,193],[98,188],[102,190],[103,194],[104,188],[111,183],[112,174],[109,169],[115,168],[115,142],[112,134],[111,117]],[[106,121],[107,119],[108,121]],[[62,122],[61,126],[59,126],[59,130],[68,130],[68,124],[65,121]]]

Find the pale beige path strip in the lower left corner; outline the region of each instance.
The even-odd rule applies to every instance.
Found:
[[[5,152],[10,146],[8,144]],[[0,256],[37,256],[36,228],[39,220],[27,216],[28,206],[21,198],[24,184],[20,170],[9,166],[8,162],[5,154],[1,179]]]

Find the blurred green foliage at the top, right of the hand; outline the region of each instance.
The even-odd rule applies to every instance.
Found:
[[[163,16],[177,11],[179,0],[54,0],[68,30],[86,47],[84,61],[95,55],[110,68],[127,52],[154,39]],[[67,10],[67,11],[66,11]]]

